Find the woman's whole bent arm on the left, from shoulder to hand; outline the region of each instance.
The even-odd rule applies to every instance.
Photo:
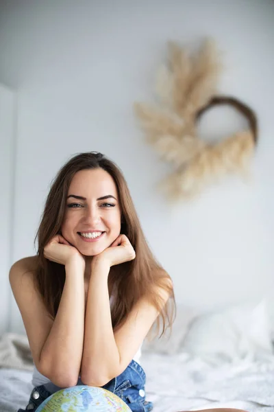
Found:
[[[84,260],[69,249],[61,249],[61,253],[60,250],[56,251],[60,247],[66,248],[64,244],[55,243],[49,248],[51,254],[47,250],[49,258],[64,263],[66,270],[64,289],[54,321],[49,317],[42,297],[36,290],[35,265],[30,268],[27,263],[32,258],[23,259],[12,266],[10,284],[38,371],[55,385],[69,387],[77,383],[82,360]]]

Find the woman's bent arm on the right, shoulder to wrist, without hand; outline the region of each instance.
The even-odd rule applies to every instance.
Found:
[[[103,386],[119,376],[138,351],[158,317],[158,311],[145,299],[138,301],[121,328],[112,330],[108,295],[108,260],[94,258],[86,305],[84,351],[81,378],[85,385]],[[163,290],[164,303],[169,296]]]

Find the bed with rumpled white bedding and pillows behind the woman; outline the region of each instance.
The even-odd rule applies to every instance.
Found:
[[[234,407],[274,412],[272,329],[264,302],[199,316],[179,308],[171,338],[143,346],[153,411]],[[25,336],[2,336],[1,412],[27,404],[31,362]]]

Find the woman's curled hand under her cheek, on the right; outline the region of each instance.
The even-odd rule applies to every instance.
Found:
[[[120,235],[116,240],[114,240],[110,247],[95,256],[92,264],[103,260],[103,262],[107,262],[109,266],[114,266],[116,264],[134,260],[135,256],[135,251],[127,236]]]

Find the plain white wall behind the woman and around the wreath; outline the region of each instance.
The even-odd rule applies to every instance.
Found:
[[[171,273],[178,301],[212,308],[269,295],[273,1],[7,3],[0,13],[0,80],[18,88],[13,260],[34,253],[42,205],[58,168],[75,152],[99,150],[125,173],[147,239]],[[166,165],[145,144],[132,102],[152,100],[153,75],[166,56],[167,40],[197,44],[204,36],[216,38],[223,52],[220,90],[258,113],[253,180],[245,185],[228,179],[199,201],[171,210],[155,192]],[[229,111],[210,116],[222,136],[242,126]],[[12,328],[19,330],[15,306],[13,311]]]

